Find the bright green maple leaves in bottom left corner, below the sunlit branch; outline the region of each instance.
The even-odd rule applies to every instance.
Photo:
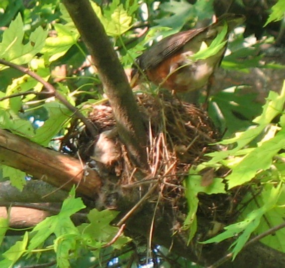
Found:
[[[100,249],[108,245],[119,231],[118,227],[110,225],[118,212],[93,209],[87,214],[89,223],[76,227],[71,216],[85,207],[81,198],[75,197],[73,188],[70,196],[63,202],[60,212],[43,220],[30,233],[25,232],[23,239],[2,255],[4,259],[0,261],[0,266],[13,267],[21,257],[30,258],[32,254],[37,254],[37,258],[40,258],[45,251],[53,251],[56,254],[57,265],[61,268],[70,267],[70,260],[78,259],[82,252],[90,252],[98,262]],[[7,221],[2,222],[1,240],[7,229]],[[54,237],[52,243],[44,245],[51,236]],[[121,249],[129,241],[130,238],[120,235],[109,247]]]

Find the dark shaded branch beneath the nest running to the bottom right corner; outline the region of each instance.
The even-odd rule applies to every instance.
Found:
[[[188,234],[176,232],[175,226],[178,223],[173,222],[173,209],[164,208],[163,214],[157,213],[153,243],[163,245],[171,249],[173,253],[182,256],[191,262],[195,262],[203,267],[208,267],[222,258],[233,240],[225,240],[220,243],[201,245],[195,239],[187,246]],[[130,232],[126,235],[141,234],[149,237],[150,226],[153,217],[153,206],[146,205],[139,213],[135,214],[127,222],[126,228]],[[199,228],[208,228],[207,221],[198,221]],[[205,224],[201,227],[200,225]],[[228,260],[220,266],[221,268],[283,268],[285,263],[285,254],[273,248],[267,247],[260,242],[252,244],[250,247],[242,250],[237,258],[232,262]]]

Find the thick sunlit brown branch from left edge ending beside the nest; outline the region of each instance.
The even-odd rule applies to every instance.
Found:
[[[2,129],[0,163],[65,190],[75,184],[79,193],[91,198],[99,192],[101,185],[97,172],[82,166],[79,160],[43,148]]]

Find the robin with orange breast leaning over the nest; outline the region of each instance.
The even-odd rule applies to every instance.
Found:
[[[179,32],[162,39],[136,58],[132,66],[131,85],[135,86],[142,82],[141,77],[146,77],[155,85],[175,93],[201,89],[220,65],[230,31],[243,21],[243,15],[224,14],[208,27]],[[225,24],[224,42],[218,51],[208,58],[191,58],[201,46],[209,47],[225,29]]]

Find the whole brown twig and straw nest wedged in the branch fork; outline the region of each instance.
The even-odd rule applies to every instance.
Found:
[[[97,138],[94,140],[75,121],[63,139],[62,148],[68,148],[74,157],[79,156],[103,179],[102,194],[97,198],[100,203],[95,201],[97,208],[123,207],[128,211],[148,194],[148,204],[159,201],[162,211],[167,206],[178,207],[179,211],[187,213],[183,180],[187,178],[191,165],[206,161],[206,154],[217,150],[209,144],[216,142],[219,134],[206,112],[172,95],[138,94],[136,99],[148,140],[150,168],[147,174],[137,169],[128,158],[108,101],[95,105],[89,115],[98,129]],[[211,170],[206,173],[210,174]],[[228,170],[221,168],[212,174],[212,178],[223,178],[226,173]],[[230,222],[236,216],[237,198],[243,195],[239,191],[199,195],[198,215],[209,222]]]

